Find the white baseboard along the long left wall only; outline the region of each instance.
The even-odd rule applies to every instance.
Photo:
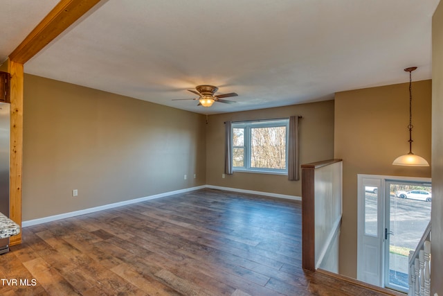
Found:
[[[127,204],[135,204],[136,202],[143,202],[145,200],[154,200],[155,198],[163,198],[163,197],[169,196],[169,195],[174,195],[174,194],[178,194],[178,193],[185,193],[185,192],[195,191],[195,190],[204,189],[204,188],[206,188],[205,185],[196,186],[196,187],[191,187],[191,188],[186,188],[186,189],[180,189],[180,190],[169,191],[169,192],[165,192],[165,193],[145,196],[144,198],[135,198],[134,200],[124,200],[123,202],[114,202],[112,204],[104,204],[99,207],[92,207],[89,209],[81,209],[79,211],[70,211],[69,213],[58,214],[58,215],[48,216],[48,217],[44,217],[44,218],[37,218],[37,219],[33,219],[33,220],[27,220],[27,221],[23,221],[21,223],[21,227],[28,227],[28,226],[33,226],[33,225],[51,222],[51,221],[55,221],[55,220],[71,218],[71,217],[75,217],[75,216],[93,213],[95,211],[103,211],[104,209],[112,209],[114,207],[121,207],[121,206],[124,206]]]

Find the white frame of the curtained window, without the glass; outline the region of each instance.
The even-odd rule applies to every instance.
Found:
[[[277,168],[252,168],[251,167],[251,129],[252,128],[286,128],[286,155],[284,169]],[[237,121],[232,123],[232,129],[244,128],[244,166],[233,166],[233,171],[249,172],[249,173],[269,173],[275,175],[287,175],[288,174],[288,145],[289,145],[289,119],[272,119],[267,121]],[[232,130],[232,137],[234,132]],[[234,143],[233,139],[231,141]],[[233,144],[234,145],[234,144]],[[233,148],[239,146],[233,146]]]

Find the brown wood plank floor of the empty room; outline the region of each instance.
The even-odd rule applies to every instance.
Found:
[[[302,270],[300,240],[300,202],[192,191],[24,228],[0,295],[383,295]]]

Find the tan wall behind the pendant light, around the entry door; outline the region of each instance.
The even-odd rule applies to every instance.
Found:
[[[408,85],[335,96],[334,157],[343,159],[342,275],[356,277],[357,174],[431,177],[431,168],[392,166],[396,157],[409,151]],[[413,82],[413,125],[413,152],[431,162],[431,80]]]

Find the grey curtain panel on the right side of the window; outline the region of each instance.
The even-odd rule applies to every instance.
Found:
[[[288,147],[288,180],[300,180],[300,172],[298,171],[299,153],[298,146],[298,120],[300,116],[289,117],[289,147]]]

